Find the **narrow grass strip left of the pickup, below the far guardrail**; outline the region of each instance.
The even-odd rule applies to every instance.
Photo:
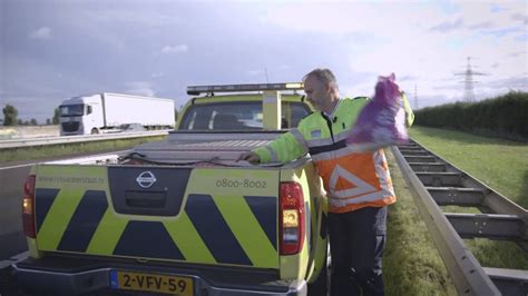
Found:
[[[4,149],[0,152],[0,164],[10,161],[22,161],[31,159],[43,159],[57,156],[74,156],[84,152],[109,151],[116,149],[128,149],[136,145],[162,140],[165,136],[148,138],[134,138],[121,140],[104,140],[79,144],[49,145],[28,148]]]

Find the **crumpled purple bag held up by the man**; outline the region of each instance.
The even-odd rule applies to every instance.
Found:
[[[409,140],[403,101],[394,79],[394,73],[378,78],[374,97],[361,110],[346,139],[349,147],[369,151]]]

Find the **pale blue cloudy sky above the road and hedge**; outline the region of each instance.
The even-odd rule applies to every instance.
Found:
[[[528,91],[528,1],[0,0],[0,108],[45,122],[69,97],[300,81],[343,97],[395,73],[414,109]]]

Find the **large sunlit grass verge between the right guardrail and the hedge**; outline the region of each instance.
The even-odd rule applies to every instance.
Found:
[[[412,127],[411,137],[524,208],[528,208],[528,145],[467,132]]]

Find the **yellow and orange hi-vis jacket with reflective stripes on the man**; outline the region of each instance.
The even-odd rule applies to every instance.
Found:
[[[402,93],[407,126],[414,115]],[[262,162],[286,162],[310,152],[323,179],[331,213],[383,207],[395,201],[383,149],[354,152],[345,144],[368,98],[341,99],[334,114],[313,112],[296,129],[254,150]]]

